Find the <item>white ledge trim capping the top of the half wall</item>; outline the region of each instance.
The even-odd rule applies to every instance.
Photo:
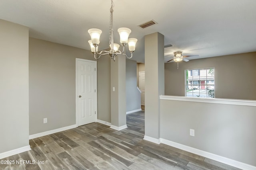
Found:
[[[215,104],[230,104],[240,106],[256,106],[256,100],[238,100],[238,99],[222,99],[222,98],[191,98],[185,96],[160,96],[161,100],[178,100],[186,102],[201,102]]]

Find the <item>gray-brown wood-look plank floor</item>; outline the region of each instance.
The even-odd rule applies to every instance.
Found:
[[[115,131],[91,123],[32,139],[32,150],[2,159],[30,160],[30,164],[0,164],[0,170],[238,170],[168,145],[142,140],[144,111],[127,115],[127,126]],[[33,164],[33,160],[44,164]]]

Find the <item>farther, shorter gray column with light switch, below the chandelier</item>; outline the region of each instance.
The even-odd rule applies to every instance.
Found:
[[[122,130],[126,125],[126,57],[118,56],[110,61],[111,126]],[[114,88],[114,89],[113,89]]]

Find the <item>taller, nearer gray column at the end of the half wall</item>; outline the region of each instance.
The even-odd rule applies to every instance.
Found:
[[[164,95],[164,35],[145,36],[145,136],[160,143],[160,99]]]

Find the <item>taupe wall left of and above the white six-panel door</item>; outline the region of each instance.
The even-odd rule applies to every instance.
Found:
[[[76,58],[94,60],[84,49],[29,39],[30,135],[76,124]]]

